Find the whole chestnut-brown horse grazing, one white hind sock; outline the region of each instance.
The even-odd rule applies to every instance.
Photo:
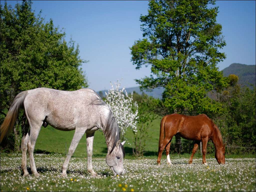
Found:
[[[163,150],[167,155],[167,163],[170,162],[170,144],[174,135],[180,135],[188,140],[195,140],[191,157],[188,161],[192,163],[193,156],[202,142],[203,164],[206,164],[205,154],[208,139],[211,139],[215,146],[215,158],[219,164],[225,164],[225,146],[218,127],[205,114],[197,116],[186,116],[170,114],[163,117],[160,126],[159,148],[157,163],[160,165]]]

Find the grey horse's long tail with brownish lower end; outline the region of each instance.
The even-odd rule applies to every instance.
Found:
[[[24,106],[23,102],[27,94],[28,94],[27,91],[23,91],[17,94],[16,97],[14,98],[13,103],[10,106],[10,109],[5,117],[5,120],[0,127],[0,133],[1,133],[0,143],[2,143],[3,138],[13,128],[19,113],[19,108]]]

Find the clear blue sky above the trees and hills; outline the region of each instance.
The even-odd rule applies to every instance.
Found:
[[[7,1],[14,5],[21,1]],[[64,28],[66,40],[79,45],[80,57],[89,88],[110,89],[110,81],[121,80],[121,87],[138,86],[134,79],[150,75],[150,67],[136,70],[129,47],[142,39],[140,15],[146,15],[148,1],[32,1],[32,8],[49,22]],[[4,4],[4,1],[1,1]],[[216,1],[217,23],[222,25],[227,58],[220,70],[237,62],[255,65],[255,1]]]

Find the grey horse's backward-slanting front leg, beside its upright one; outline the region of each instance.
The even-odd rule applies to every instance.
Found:
[[[67,155],[65,162],[62,166],[61,176],[67,175],[67,168],[68,168],[69,160],[70,160],[71,156],[73,155],[73,153],[75,152],[79,141],[81,140],[82,136],[84,135],[85,130],[86,129],[83,129],[83,128],[76,128],[72,142],[71,142],[69,150],[68,150],[68,155]]]

